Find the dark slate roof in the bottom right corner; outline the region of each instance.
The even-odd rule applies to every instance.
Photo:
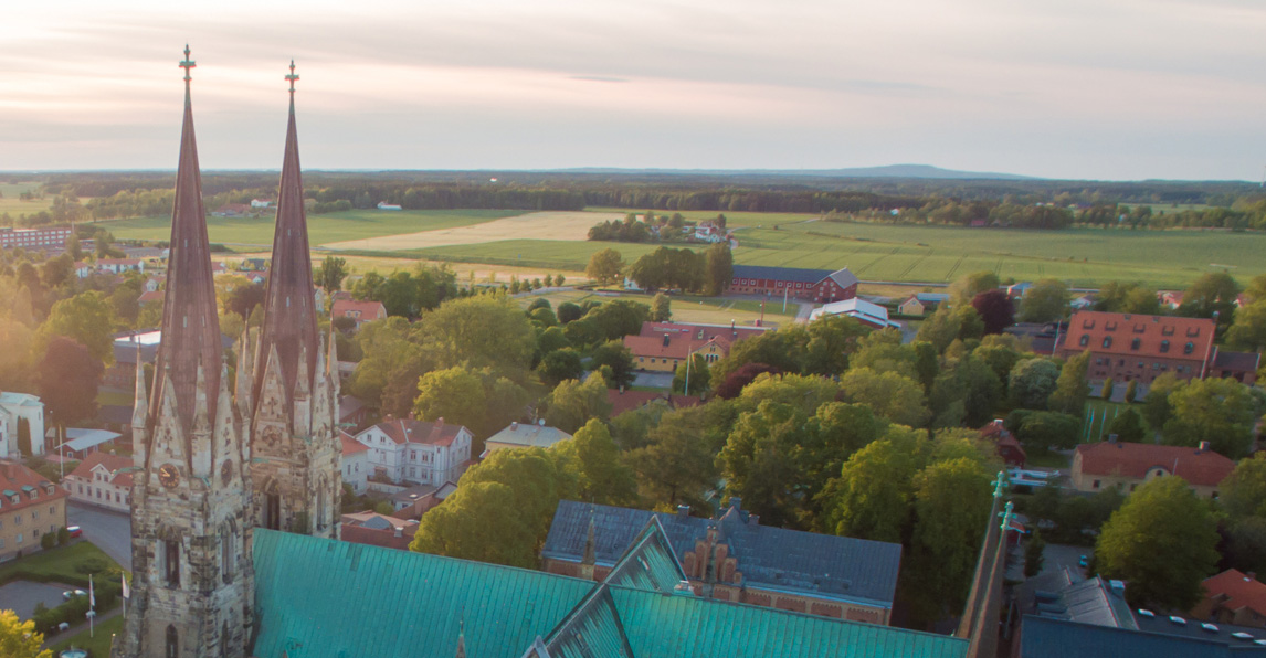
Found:
[[[1025,615],[1020,630],[1020,658],[1231,658],[1266,655],[1266,647],[1162,635],[1112,626],[1077,624]]]

